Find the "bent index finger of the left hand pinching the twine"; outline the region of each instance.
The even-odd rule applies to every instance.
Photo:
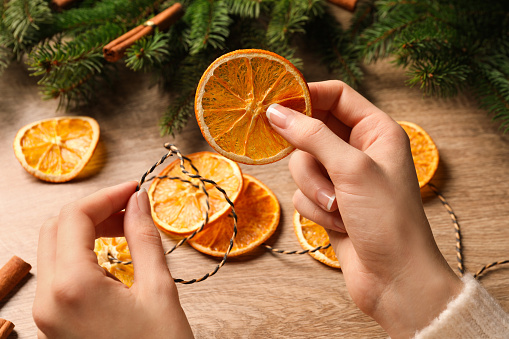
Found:
[[[93,252],[96,226],[126,207],[136,185],[130,181],[108,187],[62,209],[58,218],[57,265],[68,267],[69,261],[87,259],[97,262]]]

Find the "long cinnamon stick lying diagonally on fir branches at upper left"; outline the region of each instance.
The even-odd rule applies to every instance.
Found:
[[[182,5],[178,2],[173,4],[171,7],[168,7],[152,19],[145,22],[143,25],[133,28],[126,34],[104,46],[104,58],[109,62],[118,61],[124,56],[127,48],[144,36],[151,34],[154,31],[154,27],[158,27],[162,31],[167,30],[178,19],[180,19],[182,14]]]

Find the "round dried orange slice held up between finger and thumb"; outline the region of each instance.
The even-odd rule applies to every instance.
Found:
[[[194,107],[203,136],[217,152],[245,164],[266,164],[294,149],[265,116],[274,103],[311,116],[309,89],[299,70],[275,53],[245,49],[207,68]]]

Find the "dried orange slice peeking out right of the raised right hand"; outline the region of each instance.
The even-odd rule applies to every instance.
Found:
[[[422,188],[433,178],[438,168],[438,149],[422,127],[407,121],[398,121],[410,138],[419,187]]]

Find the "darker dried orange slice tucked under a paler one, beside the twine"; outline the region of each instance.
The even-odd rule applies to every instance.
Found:
[[[280,207],[274,193],[258,179],[244,174],[244,187],[235,203],[237,236],[229,254],[247,253],[266,241],[279,224]],[[188,243],[198,251],[222,257],[230,245],[233,219],[223,215]]]

